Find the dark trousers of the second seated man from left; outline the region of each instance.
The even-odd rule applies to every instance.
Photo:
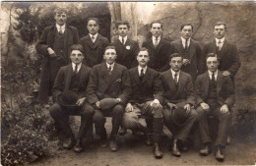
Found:
[[[119,126],[122,123],[124,113],[124,107],[121,104],[117,104],[110,109],[107,110],[99,110],[95,109],[95,115],[93,117],[93,121],[96,126],[96,134],[100,137],[100,139],[107,139],[106,130],[104,127],[105,124],[105,116],[111,115],[112,117],[112,131],[110,135],[110,139],[116,139]]]

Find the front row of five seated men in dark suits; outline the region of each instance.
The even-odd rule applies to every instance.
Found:
[[[114,46],[104,49],[104,62],[93,69],[82,63],[84,58],[83,46],[72,45],[72,63],[60,68],[53,85],[57,102],[50,107],[50,115],[64,148],[74,146],[74,151],[83,151],[82,139],[93,137],[93,124],[101,145],[106,146],[104,117],[111,116],[109,146],[112,151],[118,149],[117,133],[123,126],[145,133],[147,142],[154,144],[154,156],[161,158],[160,135],[164,124],[173,135],[171,151],[174,156],[180,156],[179,144],[185,141],[193,126],[199,130],[202,139],[200,154],[208,155],[212,150],[208,116],[212,115],[220,121],[215,157],[224,160],[229,109],[234,95],[230,78],[218,70],[215,53],[207,54],[208,71],[197,77],[195,85],[192,77],[180,70],[183,57],[178,53],[169,55],[170,69],[163,73],[148,66],[151,59],[145,47],[136,56],[138,66],[128,70],[115,62],[118,54]],[[70,115],[81,115],[77,138],[69,126]],[[150,117],[147,127],[140,124],[141,116]]]

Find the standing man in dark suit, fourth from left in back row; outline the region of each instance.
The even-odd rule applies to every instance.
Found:
[[[149,50],[151,61],[149,67],[156,71],[162,72],[166,70],[166,62],[168,55],[174,52],[172,46],[168,41],[162,38],[162,24],[160,22],[153,22],[151,24],[152,37],[143,42],[142,47]]]

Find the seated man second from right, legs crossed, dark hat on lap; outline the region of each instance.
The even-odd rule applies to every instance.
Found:
[[[195,94],[192,78],[180,70],[183,57],[178,53],[169,56],[170,70],[161,73],[163,92],[163,119],[173,135],[172,154],[180,156],[180,145],[190,133],[198,114],[194,109]]]

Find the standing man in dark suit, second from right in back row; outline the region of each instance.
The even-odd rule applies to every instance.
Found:
[[[180,30],[180,39],[172,41],[170,44],[174,47],[175,52],[183,57],[181,70],[190,74],[195,83],[197,76],[205,72],[205,56],[202,54],[198,42],[191,38],[193,26],[184,24]]]

